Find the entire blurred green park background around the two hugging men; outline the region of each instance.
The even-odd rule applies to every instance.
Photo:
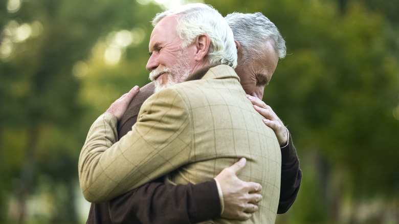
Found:
[[[148,82],[150,20],[185,3],[0,0],[0,223],[85,223],[87,131]],[[205,3],[262,12],[286,41],[263,100],[303,178],[276,223],[399,223],[399,1]]]

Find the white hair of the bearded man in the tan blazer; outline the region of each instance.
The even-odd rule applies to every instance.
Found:
[[[161,19],[169,15],[178,16],[176,31],[182,39],[182,47],[189,46],[198,35],[207,34],[211,39],[209,63],[227,64],[233,68],[237,66],[233,32],[216,9],[202,3],[187,4],[158,13],[152,20],[152,26],[155,27]]]

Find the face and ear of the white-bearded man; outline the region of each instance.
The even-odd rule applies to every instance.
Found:
[[[208,35],[197,36],[187,47],[176,31],[178,16],[166,16],[154,27],[150,42],[146,68],[150,79],[156,81],[156,92],[176,83],[183,82],[189,74],[209,65],[206,55]],[[164,32],[168,30],[169,32]],[[204,51],[205,50],[205,51]]]

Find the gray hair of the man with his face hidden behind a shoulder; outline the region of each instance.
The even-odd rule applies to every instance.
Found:
[[[278,57],[285,57],[285,40],[277,27],[262,13],[234,12],[228,14],[225,19],[233,30],[234,39],[242,46],[242,63],[249,62],[249,58],[257,55],[259,46],[269,39],[273,40],[274,51]]]

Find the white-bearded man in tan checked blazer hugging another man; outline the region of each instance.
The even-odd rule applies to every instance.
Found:
[[[193,12],[190,12],[190,8],[188,11],[189,12],[185,12],[186,15],[190,15],[190,13]],[[198,9],[195,9],[195,11],[198,11]],[[89,132],[86,144],[82,149],[81,160],[79,162],[79,174],[86,178],[86,180],[88,179],[91,181],[93,179],[92,183],[90,183],[92,186],[96,185],[99,178],[109,178],[113,182],[119,181],[114,185],[112,190],[106,192],[106,195],[100,195],[100,198],[108,199],[110,194],[113,195],[115,191],[120,191],[119,188],[125,187],[126,183],[129,183],[128,185],[132,182],[136,183],[135,181],[140,181],[140,177],[148,181],[148,179],[151,180],[151,178],[160,175],[158,174],[158,170],[150,169],[150,166],[148,166],[146,162],[142,163],[137,157],[141,159],[149,158],[149,161],[155,161],[159,163],[161,167],[165,165],[165,169],[167,169],[168,172],[172,171],[171,169],[173,168],[178,168],[172,171],[172,173],[169,173],[167,178],[168,181],[176,183],[205,181],[214,176],[213,173],[215,173],[216,170],[220,171],[224,166],[227,166],[229,164],[228,161],[232,163],[231,158],[238,159],[240,157],[246,157],[250,163],[250,170],[248,166],[243,169],[243,175],[241,175],[241,177],[246,177],[247,181],[257,180],[262,183],[263,186],[269,188],[269,191],[262,190],[262,194],[266,195],[269,201],[260,204],[259,214],[256,213],[250,220],[252,222],[261,223],[274,222],[275,212],[273,212],[273,210],[277,209],[277,204],[276,200],[273,200],[273,198],[276,198],[275,192],[278,192],[280,174],[280,150],[276,150],[276,148],[279,149],[279,147],[276,147],[278,144],[276,144],[277,141],[275,136],[270,135],[270,133],[272,133],[270,132],[271,130],[265,128],[264,125],[259,126],[258,115],[254,115],[253,110],[248,110],[248,102],[242,100],[242,89],[240,88],[239,90],[236,88],[239,79],[236,78],[237,76],[234,71],[229,66],[218,65],[229,64],[234,66],[234,60],[231,60],[229,57],[231,56],[231,52],[235,54],[235,51],[215,52],[217,49],[220,50],[220,46],[223,46],[223,44],[225,44],[223,47],[228,46],[228,41],[223,42],[224,38],[221,38],[220,43],[222,44],[220,45],[218,43],[220,37],[217,36],[219,34],[216,34],[216,37],[214,37],[212,34],[214,30],[211,28],[210,30],[205,29],[204,31],[201,24],[200,26],[197,26],[197,24],[195,25],[202,29],[191,33],[185,32],[187,28],[189,28],[188,30],[195,29],[191,29],[190,24],[187,25],[187,21],[182,17],[185,17],[185,14],[183,13],[183,15],[181,15],[181,12],[179,12],[177,15],[175,13],[166,16],[165,14],[159,15],[159,23],[157,23],[157,17],[154,19],[155,28],[151,34],[150,40],[150,52],[152,55],[147,63],[147,69],[151,71],[151,77],[156,80],[159,89],[163,89],[174,83],[183,82],[184,80],[186,80],[186,82],[173,85],[172,87],[166,88],[165,91],[156,94],[159,96],[152,100],[148,110],[143,110],[147,102],[144,103],[138,123],[133,127],[132,131],[126,135],[130,137],[130,140],[134,135],[139,135],[139,137],[134,138],[134,143],[125,140],[126,137],[124,137],[120,142],[114,144],[113,141],[116,139],[114,136],[114,140],[110,140],[112,139],[110,137],[106,138],[110,143],[99,146],[98,142],[100,137],[98,133],[96,133],[98,131],[93,129],[106,129],[106,127],[102,127],[104,123],[106,123],[106,116],[104,115],[103,118],[100,117],[101,122],[98,123],[101,123],[101,126],[96,126],[96,122],[93,124],[92,133]],[[213,28],[216,27],[216,29],[220,31],[215,24],[211,26]],[[163,33],[165,30],[170,31],[174,28],[180,38],[176,38],[177,36],[174,32]],[[221,36],[229,33],[225,33],[223,29],[221,29],[221,31]],[[205,33],[205,35],[203,33]],[[182,41],[176,41],[176,39]],[[239,46],[237,46],[237,48],[239,49]],[[131,92],[135,92],[135,90],[132,89]],[[163,97],[163,94],[166,94],[167,97]],[[166,99],[168,97],[170,98],[170,95],[172,95],[172,101]],[[149,100],[152,97],[150,97]],[[119,100],[119,102],[114,103],[108,109],[108,112],[113,113],[119,118],[119,116],[123,114],[123,109],[119,110],[116,108],[120,106],[120,102],[128,102],[129,98],[130,95],[128,94],[123,99]],[[234,98],[234,100],[232,98]],[[183,103],[180,101],[183,101]],[[163,104],[169,105],[166,106]],[[176,106],[184,108],[176,109],[174,108]],[[168,111],[159,111],[162,109],[167,109]],[[188,112],[181,110],[188,110]],[[227,111],[229,112],[228,114],[225,113]],[[262,113],[262,111],[259,112]],[[154,119],[157,114],[162,115],[161,117],[163,118],[161,120]],[[165,119],[165,121],[163,119]],[[204,124],[205,119],[208,123]],[[242,121],[242,119],[245,121]],[[155,124],[151,122],[151,120],[157,120],[157,122],[161,124]],[[257,122],[254,122],[256,120]],[[179,121],[179,125],[178,127],[173,127],[172,124],[176,121]],[[213,121],[213,125],[209,124],[209,121]],[[242,123],[245,125],[242,125]],[[159,127],[157,127],[157,125]],[[211,126],[211,128],[207,128],[207,126]],[[171,129],[174,131],[172,135],[168,135],[168,138],[162,137],[161,135],[161,140],[157,139],[151,142],[151,138],[148,137],[147,139],[147,135],[152,137],[156,136],[156,138],[159,137],[157,133],[153,132],[165,132],[165,130]],[[145,137],[143,133],[145,133]],[[254,133],[257,137],[250,136]],[[242,134],[246,136],[243,138]],[[104,133],[101,133],[101,135],[104,135]],[[169,141],[171,136],[173,140]],[[260,138],[260,136],[262,136],[262,138]],[[143,150],[142,147],[137,146],[140,141],[144,141],[144,145],[151,148],[152,151],[147,151],[147,155],[140,152],[140,150]],[[121,142],[125,142],[126,144]],[[176,142],[184,146],[178,147],[177,151],[176,149],[170,150],[173,146],[176,147]],[[110,145],[112,146],[108,148]],[[274,146],[270,147],[270,145]],[[243,146],[246,146],[246,148],[243,149]],[[209,150],[208,147],[211,148],[211,150]],[[119,151],[122,151],[122,153],[119,153]],[[140,156],[137,156],[137,154],[134,156],[137,152]],[[175,153],[175,156],[170,155],[170,152]],[[111,155],[110,157],[112,159],[109,159],[108,155]],[[130,158],[128,155],[136,158]],[[120,159],[120,157],[123,158]],[[176,159],[175,157],[181,158]],[[107,160],[108,162],[106,162]],[[110,160],[113,162],[109,162]],[[109,172],[108,174],[106,173],[107,169],[112,169],[115,161],[121,162],[114,166],[115,170],[119,169],[121,166],[122,171],[125,169],[123,166],[130,167],[131,170],[125,169],[128,170],[128,172],[124,173],[122,175],[123,177],[119,178],[119,180],[118,177],[115,178],[110,176]],[[171,161],[176,162],[177,165],[173,165]],[[88,164],[88,166],[86,164]],[[99,175],[93,175],[93,172],[98,172],[96,168],[99,164],[102,170],[100,170]],[[106,166],[106,168],[104,168],[104,166]],[[88,174],[88,170],[90,170],[90,174]],[[135,171],[138,174],[135,174]],[[121,173],[121,171],[117,170],[117,173]],[[161,173],[161,175],[166,174],[165,171]],[[80,180],[81,186],[83,186],[83,193],[86,193],[86,198],[88,196],[91,197],[93,194],[97,194],[98,188],[96,190],[95,187],[85,185],[85,183],[82,184],[82,182],[86,181],[84,178]],[[134,181],[126,180],[127,178],[133,178]],[[103,181],[101,181],[101,183],[103,183]],[[87,188],[84,189],[84,187]],[[215,221],[223,223],[226,220],[216,219]]]

